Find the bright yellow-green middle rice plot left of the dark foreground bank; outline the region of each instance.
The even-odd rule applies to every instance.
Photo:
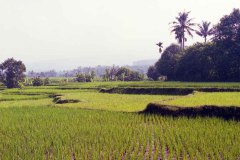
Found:
[[[173,96],[107,94],[89,91],[67,93],[64,95],[64,97],[66,99],[78,99],[80,100],[80,103],[68,103],[64,105],[58,105],[59,107],[80,107],[127,112],[141,111],[150,102],[159,102],[173,98]]]

